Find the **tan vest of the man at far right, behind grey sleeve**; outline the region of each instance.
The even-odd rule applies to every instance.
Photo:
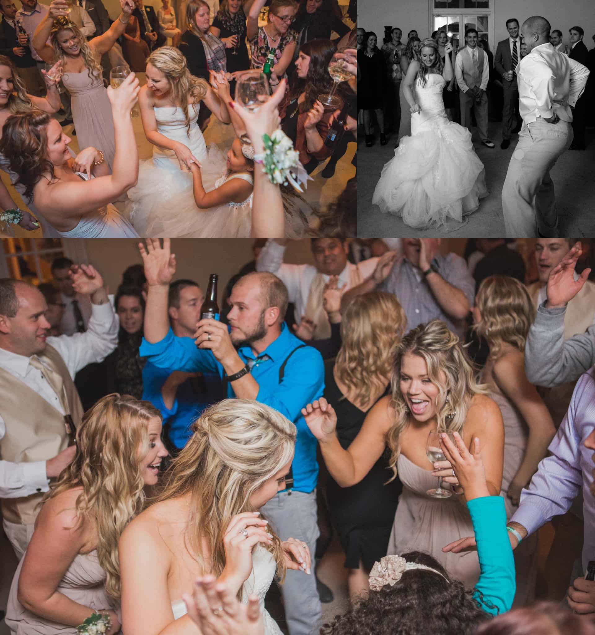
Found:
[[[541,286],[540,282],[536,282],[527,287],[535,308],[537,308],[537,303],[539,302],[539,289]],[[579,293],[566,306],[564,340],[569,340],[573,335],[584,333],[593,323],[594,315],[595,284],[587,280]],[[537,387],[539,394],[546,403],[547,410],[552,415],[556,428],[559,427],[566,415],[576,383],[566,382],[552,388]]]

